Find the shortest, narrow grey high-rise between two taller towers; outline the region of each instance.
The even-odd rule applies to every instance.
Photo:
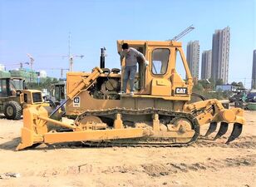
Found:
[[[211,76],[212,51],[202,53],[201,79],[209,79]]]

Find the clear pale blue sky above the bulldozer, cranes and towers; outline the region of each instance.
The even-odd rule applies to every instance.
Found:
[[[256,0],[0,0],[0,63],[7,69],[35,58],[37,70],[60,76],[50,68],[67,68],[68,33],[75,71],[99,66],[100,48],[106,47],[106,66],[119,67],[116,40],[165,41],[194,24],[181,39],[184,51],[199,40],[201,53],[212,47],[215,29],[230,27],[229,82],[250,85],[256,49]],[[27,66],[28,67],[28,66]],[[200,72],[200,71],[199,71]],[[246,78],[246,79],[245,79]]]

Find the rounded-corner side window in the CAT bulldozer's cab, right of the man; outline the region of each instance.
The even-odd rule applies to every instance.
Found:
[[[169,49],[155,49],[152,52],[152,73],[154,75],[164,75],[167,71],[170,56]]]

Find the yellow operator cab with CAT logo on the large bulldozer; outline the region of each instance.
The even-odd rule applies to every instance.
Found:
[[[179,100],[190,100],[193,81],[180,42],[117,41],[119,53],[123,43],[128,43],[130,47],[143,53],[150,63],[145,66],[142,60],[138,59],[134,96],[165,97],[169,100],[179,97]],[[186,81],[176,71],[177,57],[182,60]],[[125,59],[121,64],[125,65]]]

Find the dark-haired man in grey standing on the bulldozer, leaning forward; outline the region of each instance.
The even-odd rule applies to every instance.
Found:
[[[149,62],[145,60],[144,55],[141,52],[138,52],[135,48],[129,47],[128,43],[124,43],[122,45],[122,52],[121,52],[121,62],[122,59],[126,57],[125,66],[122,66],[121,69],[124,71],[123,82],[122,82],[122,89],[120,95],[126,94],[126,86],[128,79],[130,80],[130,95],[134,95],[135,91],[135,73],[137,71],[137,57],[142,59],[145,63],[145,66],[149,65]]]

